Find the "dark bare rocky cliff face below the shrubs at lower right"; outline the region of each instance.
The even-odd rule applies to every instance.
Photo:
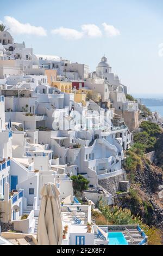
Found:
[[[118,197],[116,204],[139,214],[145,223],[163,229],[163,200],[158,197],[159,185],[163,184],[163,172],[154,164],[143,164],[135,171],[135,182],[126,197]]]

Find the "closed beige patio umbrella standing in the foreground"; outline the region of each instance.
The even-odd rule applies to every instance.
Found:
[[[47,183],[41,190],[41,207],[37,228],[38,245],[61,245],[62,221],[59,191],[54,183]]]

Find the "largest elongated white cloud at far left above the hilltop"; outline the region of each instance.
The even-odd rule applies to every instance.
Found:
[[[5,16],[4,24],[10,28],[13,34],[28,34],[28,35],[40,35],[46,36],[46,30],[43,27],[35,27],[30,25],[30,23],[21,23],[14,17]]]

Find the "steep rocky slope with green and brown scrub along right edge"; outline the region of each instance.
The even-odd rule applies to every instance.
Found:
[[[142,224],[148,225],[149,229],[153,230],[152,233],[158,234],[160,242],[160,229],[163,228],[162,203],[158,200],[157,192],[159,185],[163,183],[163,173],[158,166],[146,159],[145,154],[159,150],[163,135],[158,124],[153,122],[142,122],[140,128],[141,132],[134,135],[135,143],[127,152],[124,164],[128,180],[131,182],[130,192],[126,197],[118,197],[116,204],[120,209],[122,207],[122,211],[128,209],[134,219],[139,215]]]

